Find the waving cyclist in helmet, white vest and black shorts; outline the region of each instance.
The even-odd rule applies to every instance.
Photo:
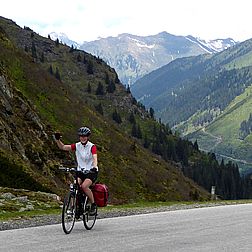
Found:
[[[88,127],[81,127],[78,130],[79,142],[73,144],[64,144],[60,138],[60,133],[54,133],[53,137],[61,150],[74,151],[77,159],[77,177],[78,183],[84,193],[88,196],[91,204],[90,215],[96,213],[96,204],[90,186],[95,182],[98,176],[98,160],[96,145],[89,141],[91,130]],[[85,171],[85,173],[84,173]],[[89,171],[88,173],[86,173]]]

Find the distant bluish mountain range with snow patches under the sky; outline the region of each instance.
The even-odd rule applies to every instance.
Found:
[[[76,45],[66,36],[54,34],[54,38],[57,37],[69,46]],[[205,41],[193,36],[175,36],[167,32],[152,36],[123,33],[117,37],[85,42],[77,48],[106,61],[116,70],[122,83],[131,86],[137,79],[174,59],[220,52],[236,43],[231,38]]]

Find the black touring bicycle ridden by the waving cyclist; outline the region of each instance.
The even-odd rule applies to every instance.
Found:
[[[70,184],[69,192],[66,194],[62,208],[62,228],[66,234],[73,230],[77,217],[82,217],[84,227],[91,230],[96,222],[97,207],[95,214],[90,215],[91,202],[77,182],[77,168],[60,167],[62,171],[74,173],[74,181]],[[85,170],[83,171],[86,172]],[[79,216],[77,216],[79,215]]]

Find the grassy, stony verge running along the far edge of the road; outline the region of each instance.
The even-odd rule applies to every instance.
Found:
[[[99,208],[102,214],[113,212],[155,212],[162,209],[199,208],[212,205],[234,205],[252,203],[251,200],[214,201],[139,201],[124,205],[108,205]],[[45,215],[61,215],[62,199],[56,194],[33,192],[24,189],[0,187],[0,222],[30,219]]]

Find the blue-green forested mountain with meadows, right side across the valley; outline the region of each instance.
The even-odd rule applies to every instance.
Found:
[[[216,54],[177,59],[131,91],[200,149],[251,171],[252,40]]]

